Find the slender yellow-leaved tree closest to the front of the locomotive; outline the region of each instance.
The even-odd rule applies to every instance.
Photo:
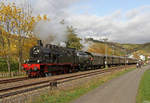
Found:
[[[28,4],[27,4],[28,5]],[[14,5],[14,8],[17,7]],[[29,38],[32,35],[32,29],[35,23],[35,17],[31,15],[29,6],[24,5],[21,9],[16,9],[16,33],[18,35],[18,62],[19,62],[19,71],[21,70],[21,64],[23,61],[23,47],[24,41],[26,38]]]

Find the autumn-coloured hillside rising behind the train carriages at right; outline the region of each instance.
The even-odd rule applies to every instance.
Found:
[[[93,44],[89,47],[90,52],[105,54],[105,43],[101,41],[89,40],[92,41]],[[145,44],[120,44],[109,42],[108,46],[108,55],[116,55],[116,56],[125,56],[134,55],[134,57],[138,57],[139,55],[150,56],[150,43]]]

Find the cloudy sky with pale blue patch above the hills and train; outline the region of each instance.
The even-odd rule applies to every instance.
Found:
[[[14,0],[12,0],[14,1]],[[15,0],[20,2],[21,0]],[[22,0],[23,1],[23,0]],[[34,14],[64,19],[82,38],[150,42],[150,0],[30,0]]]

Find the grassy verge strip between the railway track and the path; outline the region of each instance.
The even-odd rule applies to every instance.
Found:
[[[68,103],[82,96],[83,94],[86,94],[87,92],[99,87],[106,81],[119,77],[132,70],[134,70],[134,68],[111,73],[109,75],[94,79],[70,90],[55,90],[53,93],[52,91],[50,91],[51,93],[44,94],[41,97],[37,98],[35,101],[32,101],[31,103]]]

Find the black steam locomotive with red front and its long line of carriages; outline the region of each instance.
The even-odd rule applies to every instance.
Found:
[[[42,41],[38,40],[38,45],[30,49],[29,60],[22,66],[28,77],[45,77],[87,69],[104,68],[106,61],[108,66],[117,66],[135,64],[137,60],[119,56],[106,57],[51,44],[43,46]]]

